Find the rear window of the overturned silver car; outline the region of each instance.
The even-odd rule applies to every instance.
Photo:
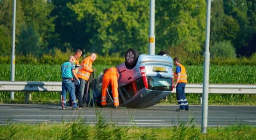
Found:
[[[148,77],[149,90],[171,91],[171,81],[169,77],[150,76]]]

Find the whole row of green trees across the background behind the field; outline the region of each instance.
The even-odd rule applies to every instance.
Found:
[[[82,49],[102,56],[148,53],[150,0],[16,0],[15,54]],[[0,0],[0,55],[11,55],[13,0]],[[204,53],[206,0],[156,0],[156,53]],[[211,57],[256,52],[256,0],[213,0]]]

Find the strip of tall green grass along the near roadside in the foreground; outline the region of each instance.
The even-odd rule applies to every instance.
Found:
[[[181,122],[173,127],[137,127],[106,124],[96,112],[95,126],[85,125],[81,118],[61,124],[7,124],[0,126],[0,140],[255,140],[256,127],[236,124],[228,127],[200,127]],[[191,124],[191,119],[189,124]]]

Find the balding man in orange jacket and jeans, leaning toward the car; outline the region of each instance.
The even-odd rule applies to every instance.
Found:
[[[85,107],[87,104],[85,100],[83,100],[84,92],[85,92],[85,85],[89,84],[88,80],[90,78],[91,73],[93,72],[92,69],[92,63],[96,60],[97,55],[95,53],[92,53],[90,56],[87,56],[85,59],[83,59],[77,76],[80,80],[80,87],[78,92],[78,105],[79,107]]]

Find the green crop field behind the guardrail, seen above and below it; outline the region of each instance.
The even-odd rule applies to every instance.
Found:
[[[95,65],[95,76],[110,65]],[[203,66],[186,66],[188,83],[202,83]],[[209,83],[216,84],[256,84],[256,66],[234,65],[234,66],[210,66]],[[0,80],[9,81],[10,65],[1,64]],[[15,81],[61,81],[60,65],[30,65],[16,64]],[[59,104],[59,92],[31,92],[32,101],[29,104]],[[199,105],[200,94],[187,94],[189,104]],[[15,92],[15,100],[9,99],[9,92],[0,92],[0,103],[24,103],[24,92]],[[168,101],[161,104],[177,104],[176,95],[168,96]],[[209,105],[256,105],[254,94],[210,94]]]

